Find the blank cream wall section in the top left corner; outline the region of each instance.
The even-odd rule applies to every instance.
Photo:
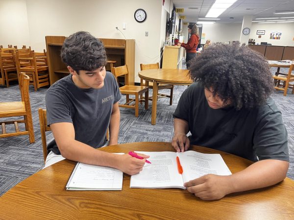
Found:
[[[29,44],[25,0],[0,0],[0,44],[4,48]]]

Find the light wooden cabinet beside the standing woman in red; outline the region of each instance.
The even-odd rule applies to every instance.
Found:
[[[181,69],[183,59],[183,47],[166,46],[163,50],[162,68]]]

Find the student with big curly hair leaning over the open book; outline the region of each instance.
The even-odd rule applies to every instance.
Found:
[[[270,98],[272,79],[264,57],[239,44],[211,45],[193,61],[191,76],[195,83],[173,114],[174,149],[205,146],[255,163],[230,176],[201,176],[185,183],[187,190],[212,200],[282,181],[289,168],[287,131]]]

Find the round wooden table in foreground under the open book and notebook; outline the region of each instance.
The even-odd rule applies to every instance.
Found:
[[[137,142],[100,148],[112,153],[174,151],[167,142]],[[192,146],[189,150],[221,154],[232,173],[251,161],[217,150]],[[234,193],[205,201],[183,189],[129,188],[122,191],[66,191],[75,162],[62,160],[28,177],[0,197],[0,219],[294,219],[294,181],[264,189]]]

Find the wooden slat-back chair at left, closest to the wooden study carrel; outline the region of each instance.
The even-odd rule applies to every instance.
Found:
[[[49,68],[48,66],[37,66],[37,57],[33,50],[29,54],[19,54],[17,50],[15,57],[18,75],[20,72],[29,75],[30,85],[34,86],[35,91],[49,85]]]

